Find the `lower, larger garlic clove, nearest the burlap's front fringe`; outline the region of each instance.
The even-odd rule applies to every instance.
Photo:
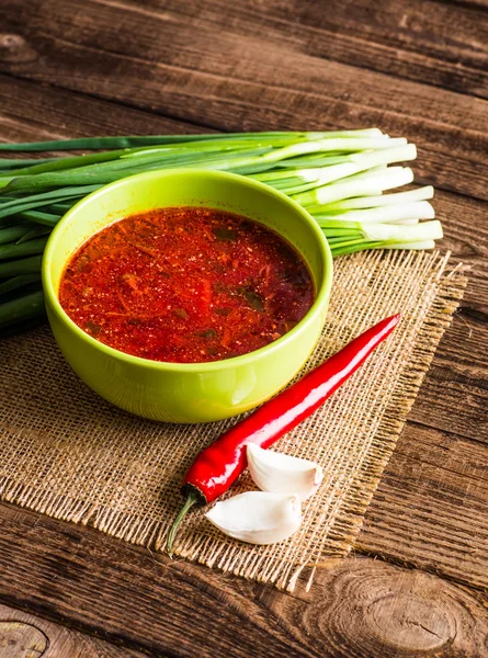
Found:
[[[217,502],[205,517],[224,534],[250,544],[282,542],[302,523],[297,496],[264,491],[246,491]]]

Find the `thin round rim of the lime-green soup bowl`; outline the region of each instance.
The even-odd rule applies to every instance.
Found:
[[[231,180],[237,182],[238,184],[245,188],[253,188],[260,192],[263,192],[268,195],[274,196],[281,203],[284,203],[291,206],[300,217],[309,225],[315,234],[317,239],[317,243],[319,247],[320,256],[324,261],[324,277],[320,282],[319,288],[317,291],[317,296],[315,298],[314,304],[310,306],[306,315],[302,318],[297,325],[284,333],[282,337],[260,348],[259,350],[253,350],[252,352],[247,352],[246,354],[241,354],[239,356],[232,356],[230,359],[222,359],[218,361],[207,361],[207,362],[198,362],[198,363],[178,363],[173,361],[154,361],[151,359],[144,359],[143,356],[135,356],[133,354],[127,354],[122,352],[121,350],[116,350],[115,348],[111,348],[105,343],[92,338],[89,333],[83,331],[65,311],[63,306],[59,303],[58,296],[55,293],[54,284],[50,279],[50,264],[56,252],[56,243],[57,236],[61,234],[65,226],[69,224],[72,216],[76,215],[81,208],[86,205],[90,205],[93,201],[98,200],[100,196],[104,196],[106,193],[116,190],[117,188],[122,188],[125,185],[134,185],[137,184],[137,181],[140,180],[150,180],[150,179],[161,179],[161,178],[170,178],[170,177],[204,177],[211,179],[222,179],[222,180]],[[164,207],[164,206],[161,206]],[[94,234],[93,234],[94,235]],[[281,236],[283,237],[283,236]],[[77,249],[81,247],[81,243],[78,245]],[[72,254],[72,252],[71,252]],[[70,256],[71,256],[70,254]],[[303,257],[302,257],[303,258]],[[64,265],[66,265],[66,260],[64,261]],[[159,169],[154,171],[147,171],[143,173],[136,173],[124,179],[120,179],[106,185],[103,185],[99,190],[88,194],[83,198],[81,198],[77,204],[75,204],[57,223],[53,232],[49,236],[49,239],[46,243],[43,261],[42,261],[42,283],[44,288],[44,294],[46,296],[46,303],[50,304],[52,310],[56,314],[58,319],[63,321],[63,324],[67,325],[68,329],[73,331],[81,340],[87,341],[94,349],[100,350],[107,356],[116,359],[118,361],[123,361],[127,364],[137,365],[140,367],[149,367],[156,371],[161,372],[185,372],[185,373],[211,373],[214,371],[222,371],[238,367],[241,365],[246,365],[249,362],[252,362],[257,359],[260,359],[261,355],[270,354],[272,352],[279,351],[286,345],[286,343],[292,342],[299,333],[303,333],[306,330],[307,325],[313,322],[316,316],[321,311],[322,306],[327,303],[330,291],[332,286],[332,277],[333,277],[333,260],[332,253],[330,251],[329,243],[327,242],[326,237],[324,236],[319,225],[315,222],[311,215],[300,206],[296,201],[286,196],[283,192],[279,190],[274,190],[273,188],[261,183],[260,181],[256,181],[253,179],[248,179],[243,175],[237,173],[230,173],[227,171],[218,171],[218,170],[207,170],[207,169]]]

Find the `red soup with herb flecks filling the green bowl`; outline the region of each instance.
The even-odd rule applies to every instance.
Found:
[[[276,340],[314,303],[310,273],[277,234],[214,208],[132,215],[71,258],[59,300],[103,343],[178,363],[246,354]]]

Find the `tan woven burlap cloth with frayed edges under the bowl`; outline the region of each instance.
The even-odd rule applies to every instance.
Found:
[[[280,544],[253,546],[227,538],[194,511],[175,554],[293,590],[305,568],[309,586],[316,565],[350,551],[465,284],[449,256],[391,251],[339,259],[324,333],[305,370],[379,319],[400,311],[402,320],[277,445],[325,470],[318,492],[304,503],[300,529]],[[185,469],[236,419],[178,426],[120,411],[78,379],[47,327],[1,341],[0,363],[1,498],[163,549]],[[253,488],[243,474],[229,496]]]

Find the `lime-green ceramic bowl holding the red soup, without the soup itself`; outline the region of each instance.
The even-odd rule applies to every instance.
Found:
[[[133,213],[184,205],[246,215],[295,246],[311,271],[317,298],[294,329],[242,356],[212,363],[162,363],[104,345],[66,315],[57,297],[59,281],[71,254],[90,236]],[[72,370],[117,407],[169,422],[204,422],[236,416],[283,388],[317,343],[331,282],[332,258],[327,240],[298,204],[245,177],[189,169],[133,175],[90,194],[56,226],[43,259],[47,316]]]

